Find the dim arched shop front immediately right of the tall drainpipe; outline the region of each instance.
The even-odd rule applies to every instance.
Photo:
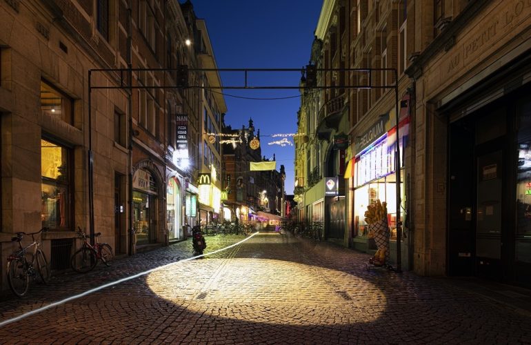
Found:
[[[152,173],[139,168],[133,175],[133,228],[137,245],[157,242],[158,188]]]

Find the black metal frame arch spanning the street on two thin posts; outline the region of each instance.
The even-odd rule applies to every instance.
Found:
[[[162,86],[133,86],[132,85],[132,72],[170,72],[174,73],[176,83],[174,85],[167,85],[164,83]],[[112,75],[112,79],[117,81],[117,86],[105,86],[105,85],[92,85],[93,73],[106,73]],[[202,86],[202,85],[190,85],[188,83],[188,75],[190,72],[241,72],[243,73],[243,85],[226,85],[226,86]],[[249,75],[250,73],[271,73],[271,72],[300,72],[301,79],[310,81],[310,86],[305,85],[293,85],[293,86],[271,86],[271,85],[250,85]],[[316,73],[319,72],[347,72],[359,75],[365,75],[367,83],[355,83],[354,85],[334,85],[334,86],[317,86]],[[390,72],[394,77],[394,84],[377,86],[372,85],[375,72]],[[397,179],[397,272],[401,272],[401,172],[400,172],[400,145],[398,143],[399,138],[399,96],[398,96],[398,71],[396,68],[316,68],[314,65],[307,65],[303,68],[188,68],[186,65],[177,66],[177,68],[94,68],[88,70],[88,197],[89,197],[89,228],[90,239],[94,242],[94,153],[92,152],[92,105],[91,94],[92,90],[100,89],[185,89],[185,88],[203,88],[203,89],[217,89],[217,90],[330,90],[330,89],[393,89],[394,90],[394,107],[397,124],[397,145],[394,148],[394,166]],[[350,80],[349,78],[345,78]],[[132,128],[129,130],[130,140]],[[130,167],[131,168],[131,167]],[[131,226],[131,219],[130,219]]]

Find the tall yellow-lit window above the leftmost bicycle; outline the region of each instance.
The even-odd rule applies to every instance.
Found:
[[[52,229],[70,228],[70,150],[41,139],[41,221]]]

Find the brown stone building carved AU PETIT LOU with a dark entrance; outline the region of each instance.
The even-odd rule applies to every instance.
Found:
[[[415,1],[414,270],[531,286],[531,2]],[[443,168],[441,168],[443,167]]]

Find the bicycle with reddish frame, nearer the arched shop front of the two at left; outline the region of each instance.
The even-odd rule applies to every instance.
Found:
[[[98,242],[98,237],[101,233],[94,234],[96,243],[92,246],[90,242],[88,242],[90,237],[83,233],[79,226],[77,229],[79,237],[83,239],[83,246],[70,257],[70,266],[72,267],[72,270],[79,273],[87,273],[96,267],[98,260],[101,260],[105,266],[110,266],[114,259],[114,253],[109,244]]]

